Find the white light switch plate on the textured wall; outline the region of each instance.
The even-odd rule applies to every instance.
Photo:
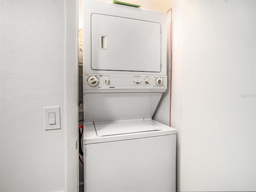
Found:
[[[49,115],[50,113],[50,115]],[[52,124],[54,121],[52,120],[52,114],[55,113],[55,124]],[[50,117],[50,119],[49,119]],[[61,129],[60,126],[60,107],[44,107],[44,129],[52,130],[52,129]]]

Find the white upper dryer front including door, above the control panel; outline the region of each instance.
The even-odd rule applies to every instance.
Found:
[[[83,14],[84,73],[166,75],[165,13],[84,1]]]

